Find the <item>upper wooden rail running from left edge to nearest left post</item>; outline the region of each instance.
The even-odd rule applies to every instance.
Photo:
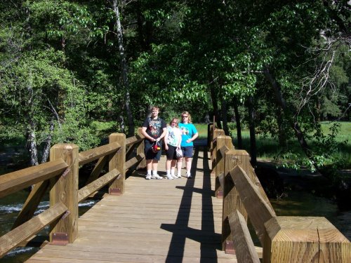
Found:
[[[7,196],[20,191],[32,184],[37,184],[59,175],[68,167],[63,159],[41,163],[39,166],[32,166],[13,173],[0,176],[0,197]]]

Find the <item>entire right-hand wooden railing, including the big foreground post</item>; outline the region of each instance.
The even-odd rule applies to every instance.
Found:
[[[244,150],[210,127],[212,175],[223,198],[222,248],[238,262],[260,262],[247,227],[263,247],[263,262],[351,262],[351,243],[325,217],[277,216]]]

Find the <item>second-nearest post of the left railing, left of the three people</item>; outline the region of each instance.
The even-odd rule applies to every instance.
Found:
[[[124,182],[126,181],[126,135],[124,133],[112,133],[109,141],[118,142],[121,145],[119,150],[112,154],[109,162],[109,172],[119,170],[121,176],[110,183],[109,193],[120,195],[124,193]]]

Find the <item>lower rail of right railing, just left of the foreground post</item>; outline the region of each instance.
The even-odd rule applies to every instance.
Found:
[[[229,215],[229,223],[230,228],[235,233],[233,243],[238,263],[260,263],[243,215],[236,210]]]

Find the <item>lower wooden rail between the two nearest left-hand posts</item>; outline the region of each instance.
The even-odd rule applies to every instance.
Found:
[[[85,187],[82,187],[81,189],[79,189],[78,203],[80,203],[81,201],[84,201],[91,194],[93,194],[93,192],[98,191],[99,189],[104,187],[106,184],[110,183],[118,175],[120,175],[119,171],[117,169],[114,169],[110,173],[106,173],[105,175],[102,175],[102,177],[100,177],[98,180],[95,180],[94,182],[91,182],[90,184],[86,185]]]

